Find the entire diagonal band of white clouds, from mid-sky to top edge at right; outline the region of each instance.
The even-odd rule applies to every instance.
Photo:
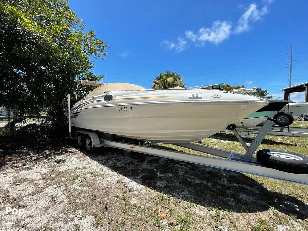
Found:
[[[241,18],[238,20],[235,28],[232,26],[232,22],[216,20],[213,22],[211,28],[201,27],[198,31],[194,32],[192,30],[185,31],[185,39],[180,35],[177,42],[172,42],[167,39],[160,42],[160,45],[168,48],[169,50],[175,50],[177,52],[184,51],[189,47],[189,42],[193,43],[195,47],[202,47],[206,42],[214,43],[218,45],[224,40],[228,39],[233,33],[241,33],[243,31],[248,31],[250,29],[249,22],[258,21],[263,15],[268,13],[268,6],[272,0],[263,0],[264,6],[261,10],[257,9],[255,3],[250,4],[248,9],[242,14]],[[239,5],[242,8],[243,5]]]

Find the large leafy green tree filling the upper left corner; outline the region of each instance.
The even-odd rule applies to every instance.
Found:
[[[107,43],[84,27],[67,0],[0,0],[0,104],[33,117],[47,109],[62,133],[76,76],[107,55]]]

